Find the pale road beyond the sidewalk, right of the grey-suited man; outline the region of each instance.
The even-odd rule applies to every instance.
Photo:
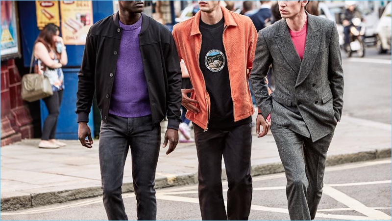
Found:
[[[365,57],[342,52],[342,60],[343,115],[391,124],[391,53],[367,47]]]

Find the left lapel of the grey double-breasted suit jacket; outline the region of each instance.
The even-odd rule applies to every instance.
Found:
[[[290,67],[295,73],[298,73],[301,66],[301,58],[295,50],[286,19],[281,19],[279,23],[279,29],[275,38],[276,44]]]

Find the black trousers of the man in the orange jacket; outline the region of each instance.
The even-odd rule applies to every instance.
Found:
[[[194,125],[199,163],[199,204],[202,220],[248,220],[252,201],[250,152],[252,125],[208,129]],[[228,182],[227,215],[222,193],[222,155]]]

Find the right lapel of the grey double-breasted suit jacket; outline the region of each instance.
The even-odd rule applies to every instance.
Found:
[[[300,65],[295,87],[305,81],[305,79],[308,77],[310,71],[313,69],[320,47],[322,31],[313,16],[309,15],[308,13],[307,15],[308,29],[306,34],[305,52],[302,63]]]

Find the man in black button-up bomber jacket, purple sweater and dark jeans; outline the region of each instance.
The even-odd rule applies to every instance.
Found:
[[[87,122],[94,93],[102,117],[99,164],[109,220],[128,220],[121,187],[129,149],[137,219],[156,220],[154,179],[160,122],[165,115],[168,129],[163,147],[170,142],[166,154],[178,142],[181,68],[177,49],[170,30],[142,13],[143,8],[143,1],[119,1],[119,12],[90,28],[78,74],[76,113],[83,146],[93,144]]]

